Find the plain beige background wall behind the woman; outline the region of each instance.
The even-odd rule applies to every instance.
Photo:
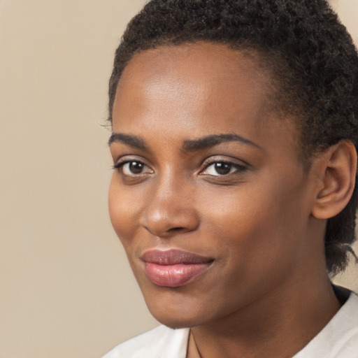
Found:
[[[358,0],[333,3],[358,39]],[[1,358],[96,358],[157,324],[108,220],[101,127],[141,4],[0,0]]]

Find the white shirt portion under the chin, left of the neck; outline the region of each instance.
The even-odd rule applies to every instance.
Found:
[[[131,338],[102,358],[185,358],[189,329],[159,326]]]

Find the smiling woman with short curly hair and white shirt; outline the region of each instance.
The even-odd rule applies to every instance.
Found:
[[[110,218],[163,324],[113,357],[357,357],[358,57],[324,0],[153,0],[110,78]]]

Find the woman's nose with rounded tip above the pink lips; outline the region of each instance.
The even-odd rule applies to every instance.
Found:
[[[199,227],[194,191],[185,180],[163,178],[152,189],[141,218],[142,226],[152,235],[168,238]]]

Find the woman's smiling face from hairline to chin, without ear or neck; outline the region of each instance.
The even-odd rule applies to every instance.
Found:
[[[310,264],[314,180],[267,88],[250,59],[206,43],[141,52],[120,79],[110,219],[170,327],[285,292]]]

